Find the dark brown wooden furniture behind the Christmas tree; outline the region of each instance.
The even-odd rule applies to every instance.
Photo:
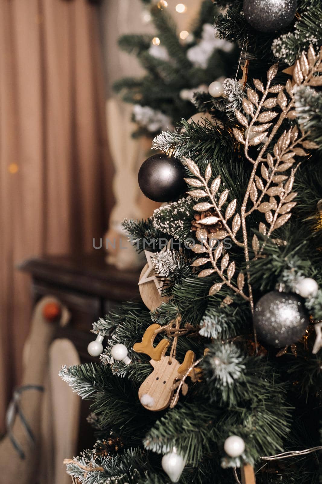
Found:
[[[36,303],[45,295],[56,296],[71,313],[68,326],[59,328],[56,337],[69,338],[77,348],[81,361],[98,361],[87,353],[87,345],[95,339],[90,333],[92,323],[104,317],[121,302],[140,297],[140,272],[119,271],[104,261],[97,250],[79,256],[48,256],[28,259],[18,265],[31,275],[31,297]],[[94,443],[91,427],[85,421],[89,403],[82,403],[79,450]]]

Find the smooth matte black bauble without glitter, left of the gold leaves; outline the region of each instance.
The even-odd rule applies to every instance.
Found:
[[[169,202],[186,188],[184,167],[177,158],[163,153],[150,156],[139,170],[139,185],[154,202]]]

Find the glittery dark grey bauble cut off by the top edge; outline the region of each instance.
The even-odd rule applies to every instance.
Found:
[[[296,0],[244,0],[243,11],[251,26],[261,32],[287,27],[296,12]]]

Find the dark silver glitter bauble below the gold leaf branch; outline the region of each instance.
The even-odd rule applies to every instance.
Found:
[[[309,324],[303,299],[294,293],[272,291],[254,308],[254,327],[258,338],[277,348],[296,343]]]

